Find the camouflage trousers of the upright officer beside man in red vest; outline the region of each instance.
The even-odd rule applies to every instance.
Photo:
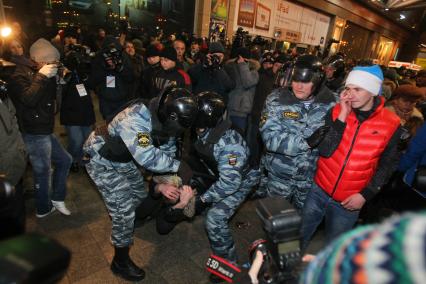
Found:
[[[266,193],[267,196],[285,197],[296,209],[302,210],[313,182],[311,179],[282,179],[269,172],[266,182]]]

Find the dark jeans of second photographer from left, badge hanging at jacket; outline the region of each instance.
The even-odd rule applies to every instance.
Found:
[[[83,144],[89,137],[92,127],[65,125],[68,135],[68,153],[71,154],[74,163],[81,163],[83,157]]]

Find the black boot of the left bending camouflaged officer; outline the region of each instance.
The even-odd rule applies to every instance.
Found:
[[[145,278],[145,271],[139,268],[129,256],[129,247],[114,247],[115,255],[112,259],[111,270],[114,274],[129,280],[140,281]]]

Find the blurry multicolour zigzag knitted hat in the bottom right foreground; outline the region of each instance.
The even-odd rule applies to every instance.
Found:
[[[300,283],[425,283],[426,212],[356,228],[309,264]]]

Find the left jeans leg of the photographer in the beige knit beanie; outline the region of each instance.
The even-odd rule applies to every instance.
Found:
[[[33,168],[37,214],[45,214],[52,207],[49,201],[52,144],[49,135],[23,135]]]

